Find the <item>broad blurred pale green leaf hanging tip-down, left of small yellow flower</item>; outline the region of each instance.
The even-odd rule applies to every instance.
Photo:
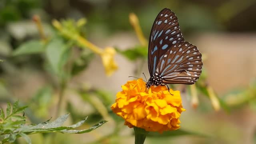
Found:
[[[61,39],[53,39],[46,46],[46,58],[56,74],[63,72],[62,68],[66,64],[69,54],[70,49]]]

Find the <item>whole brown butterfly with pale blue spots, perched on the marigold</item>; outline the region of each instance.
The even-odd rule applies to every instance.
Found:
[[[202,55],[196,46],[185,42],[176,15],[164,8],[156,17],[148,46],[150,86],[194,84],[202,72]]]

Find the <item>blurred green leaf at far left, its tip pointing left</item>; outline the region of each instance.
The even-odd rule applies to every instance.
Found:
[[[44,44],[39,40],[30,40],[21,44],[14,52],[13,56],[19,56],[24,54],[40,54],[44,52]]]

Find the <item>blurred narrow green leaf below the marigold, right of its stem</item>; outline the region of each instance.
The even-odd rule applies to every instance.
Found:
[[[172,130],[172,131],[166,131],[160,134],[159,132],[149,132],[148,137],[157,137],[157,138],[162,138],[162,137],[171,137],[171,136],[185,136],[185,135],[192,135],[192,136],[199,136],[199,137],[210,137],[207,136],[206,134],[200,134],[198,132],[190,132],[182,129],[178,130]]]

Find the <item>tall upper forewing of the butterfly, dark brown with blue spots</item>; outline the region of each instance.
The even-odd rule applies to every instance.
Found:
[[[160,57],[177,42],[184,42],[178,19],[174,12],[164,8],[156,17],[150,32],[148,46],[148,69],[154,75]]]

